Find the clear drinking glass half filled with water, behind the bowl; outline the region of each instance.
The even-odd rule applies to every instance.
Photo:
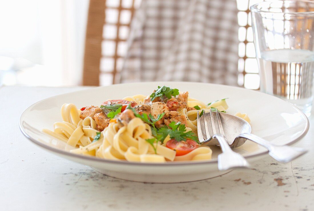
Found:
[[[260,90],[311,113],[314,80],[314,2],[251,6]]]

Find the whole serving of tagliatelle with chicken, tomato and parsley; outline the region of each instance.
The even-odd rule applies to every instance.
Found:
[[[140,114],[145,112],[144,108],[146,107],[143,106],[142,108],[141,105],[144,105],[147,98],[148,97],[144,95],[134,95],[131,97],[126,97],[123,100],[130,103],[135,102],[137,105],[134,106],[134,108],[140,108],[138,112]],[[53,124],[53,131],[49,129],[43,129],[43,131],[73,147],[77,147],[76,149],[71,150],[72,153],[86,156],[96,156],[109,160],[126,160],[132,162],[167,162],[211,159],[212,150],[208,146],[196,146],[196,148],[193,148],[187,153],[178,155],[178,151],[169,147],[171,144],[170,141],[173,142],[173,137],[171,138],[171,134],[177,133],[184,136],[188,134],[187,137],[189,139],[190,134],[197,133],[196,108],[203,110],[205,113],[209,112],[209,109],[212,107],[217,107],[219,111],[225,111],[228,108],[225,100],[220,100],[211,103],[210,105],[206,105],[197,99],[187,98],[186,107],[178,107],[174,111],[172,110],[173,102],[171,101],[175,100],[172,99],[167,100],[167,103],[157,102],[155,104],[156,109],[160,109],[160,112],[163,112],[163,115],[161,116],[165,118],[165,123],[160,122],[163,119],[160,117],[160,115],[158,117],[153,116],[154,103],[151,104],[152,110],[151,113],[149,113],[151,116],[148,117],[148,115],[146,115],[146,118],[148,118],[147,120],[145,120],[145,115],[143,114],[135,115],[132,118],[127,116],[127,118],[124,119],[125,117],[123,114],[127,112],[130,113],[130,109],[133,109],[131,107],[124,108],[125,110],[121,112],[122,107],[119,108],[119,110],[117,109],[119,106],[117,106],[117,111],[111,111],[111,113],[116,112],[117,114],[114,113],[114,118],[108,119],[107,116],[110,116],[110,114],[106,113],[107,115],[104,115],[104,110],[100,111],[99,107],[90,106],[88,109],[84,107],[79,110],[74,104],[65,103],[61,107],[61,117],[63,121]],[[180,97],[178,97],[178,100],[180,100]],[[121,103],[121,105],[123,106],[123,103]],[[110,104],[110,106],[113,105]],[[103,106],[102,109],[103,108],[107,108],[106,105]],[[130,111],[126,111],[127,109]],[[85,113],[90,111],[90,113],[86,113],[86,115],[89,114],[89,116],[84,116],[84,111]],[[120,113],[118,113],[119,111]],[[249,120],[246,114],[237,113],[236,115],[245,119],[246,121]],[[171,122],[172,119],[174,121],[177,120],[177,122],[180,120],[180,122],[176,124],[178,126],[181,125],[178,129],[172,128],[174,123],[169,125],[167,124]],[[149,123],[149,121],[151,123]],[[181,123],[181,121],[183,123]],[[159,128],[163,127],[164,131],[170,131],[170,134],[165,134],[165,137],[163,137],[162,140],[160,139],[161,135],[156,134],[156,132],[159,133],[162,131],[162,129],[158,129],[154,125],[154,123],[158,125],[159,122],[161,124]],[[100,129],[100,124],[105,124],[102,126],[104,128],[103,130]],[[168,127],[166,127],[166,125],[168,125]],[[192,137],[194,136],[191,136],[191,138]],[[184,140],[182,141],[183,144],[186,144]]]

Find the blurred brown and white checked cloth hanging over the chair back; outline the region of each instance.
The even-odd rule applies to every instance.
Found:
[[[237,12],[235,0],[143,0],[117,82],[237,86]]]

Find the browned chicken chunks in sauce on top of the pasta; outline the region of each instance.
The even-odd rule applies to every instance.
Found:
[[[156,92],[154,90],[153,94]],[[131,119],[135,118],[133,111],[142,115],[143,113],[149,114],[154,118],[157,118],[159,115],[164,113],[161,119],[159,119],[155,126],[160,128],[164,125],[169,125],[171,122],[184,124],[187,127],[187,118],[184,114],[180,114],[180,110],[186,108],[187,111],[196,110],[196,108],[188,107],[187,105],[188,92],[183,92],[178,94],[176,97],[171,95],[171,98],[165,96],[156,97],[151,100],[151,97],[148,96],[144,100],[144,104],[137,104],[134,101],[127,101],[122,99],[117,100],[107,100],[101,103],[101,106],[87,106],[81,108],[81,113],[79,117],[84,119],[86,117],[91,117],[95,120],[97,124],[97,129],[99,131],[104,130],[110,122],[118,122],[123,125],[127,124]],[[116,112],[117,108],[121,110],[115,115],[114,118],[108,117],[110,112]],[[133,108],[133,109],[127,109]]]

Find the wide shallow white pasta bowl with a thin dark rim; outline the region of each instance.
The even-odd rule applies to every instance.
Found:
[[[70,152],[72,146],[42,132],[52,129],[53,123],[62,121],[60,108],[64,103],[73,103],[78,108],[100,105],[107,99],[122,99],[136,94],[149,95],[157,86],[171,86],[180,92],[189,92],[189,97],[204,103],[229,98],[227,113],[247,113],[251,119],[252,133],[278,145],[290,145],[300,140],[308,131],[309,122],[304,113],[290,103],[257,91],[239,87],[196,82],[140,82],[97,87],[71,92],[39,101],[21,115],[19,126],[23,134],[41,148],[71,161],[93,167],[111,177],[138,182],[189,182],[222,175],[217,155],[219,147],[213,146],[210,161],[173,161],[166,163],[139,163],[105,160]],[[267,150],[252,141],[236,149],[249,162],[267,154]]]

